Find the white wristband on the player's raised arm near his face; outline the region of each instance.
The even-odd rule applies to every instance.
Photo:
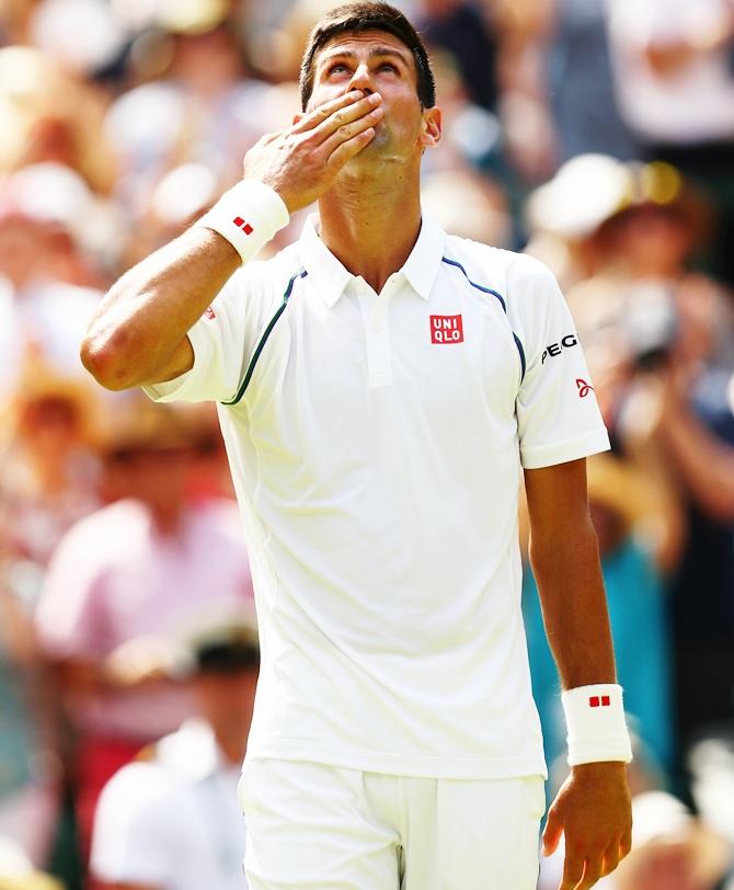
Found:
[[[256,180],[241,180],[194,225],[221,235],[246,263],[289,219],[275,190]]]

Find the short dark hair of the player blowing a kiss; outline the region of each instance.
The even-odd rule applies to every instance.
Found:
[[[428,53],[417,31],[400,10],[388,3],[356,2],[328,12],[311,32],[299,77],[302,111],[306,111],[313,92],[313,60],[317,53],[340,34],[356,34],[360,31],[385,31],[405,44],[415,61],[421,105],[432,109],[436,104],[436,83]]]

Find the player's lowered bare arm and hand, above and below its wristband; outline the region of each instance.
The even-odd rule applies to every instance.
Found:
[[[525,471],[530,561],[548,640],[564,689],[616,683],[601,568],[586,497],[586,461]],[[572,768],[548,813],[543,852],[565,834],[560,890],[587,890],[631,844],[624,763]]]

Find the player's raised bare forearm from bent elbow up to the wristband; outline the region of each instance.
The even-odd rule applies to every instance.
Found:
[[[152,253],[102,300],[82,344],[84,366],[108,389],[187,370],[186,332],[240,262],[228,241],[200,227]]]

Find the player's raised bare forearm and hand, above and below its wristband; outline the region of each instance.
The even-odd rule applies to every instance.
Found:
[[[272,218],[278,205],[293,213],[316,201],[372,139],[380,105],[379,93],[352,91],[263,137],[244,158],[244,180],[269,186],[276,195],[261,193],[261,199],[275,204],[253,209]],[[193,226],[111,288],[82,343],[84,367],[107,389],[160,383],[188,370],[194,352],[186,333],[241,262],[225,237]]]

